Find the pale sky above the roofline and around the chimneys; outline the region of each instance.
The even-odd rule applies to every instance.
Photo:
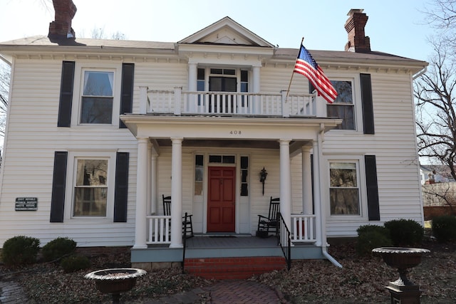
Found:
[[[93,28],[129,40],[177,42],[224,16],[282,48],[343,51],[350,9],[368,15],[373,51],[427,60],[432,34],[421,12],[431,0],[73,0],[76,37]],[[51,0],[0,0],[0,41],[47,35],[54,19]]]

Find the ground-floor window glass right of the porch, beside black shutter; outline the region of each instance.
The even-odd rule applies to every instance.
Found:
[[[357,162],[330,162],[331,215],[361,215]]]

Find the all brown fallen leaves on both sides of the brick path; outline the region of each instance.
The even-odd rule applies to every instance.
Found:
[[[410,281],[423,290],[421,303],[455,303],[456,243],[423,243],[421,247],[431,253],[425,254],[420,265],[408,274]],[[390,294],[385,285],[398,278],[398,271],[380,256],[358,257],[354,248],[354,243],[329,247],[328,252],[343,268],[326,260],[293,261],[290,271],[273,271],[251,280],[281,291],[290,303],[388,303]],[[16,278],[20,278],[32,303],[111,303],[110,295],[98,292],[95,282],[84,276],[102,268],[128,267],[130,255],[99,256],[91,261],[92,268],[75,273],[64,273],[54,263],[38,263],[16,270]],[[121,299],[141,303],[213,283],[182,274],[181,268],[149,271]],[[204,298],[199,303],[204,303]]]

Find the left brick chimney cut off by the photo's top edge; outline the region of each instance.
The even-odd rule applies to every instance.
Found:
[[[72,0],[52,0],[54,11],[56,11],[55,20],[49,23],[49,38],[66,39],[75,38],[71,21],[76,14],[76,6]]]

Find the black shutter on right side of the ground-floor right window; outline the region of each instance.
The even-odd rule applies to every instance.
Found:
[[[368,194],[369,221],[380,221],[377,164],[375,163],[375,155],[364,155],[364,164],[366,166],[366,188]]]

